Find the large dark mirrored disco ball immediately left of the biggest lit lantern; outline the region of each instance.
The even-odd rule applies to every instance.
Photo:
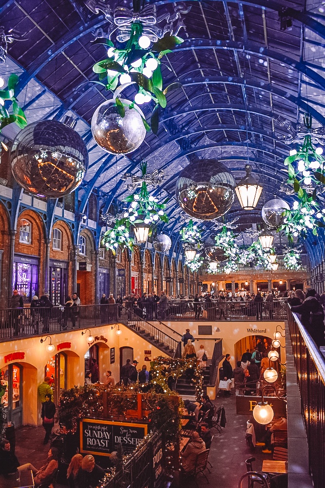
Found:
[[[191,217],[212,220],[225,215],[235,198],[235,180],[215,159],[201,159],[184,168],[176,182],[178,203]]]

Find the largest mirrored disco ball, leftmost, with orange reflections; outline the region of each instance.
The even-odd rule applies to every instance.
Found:
[[[74,191],[88,167],[88,151],[79,134],[58,121],[33,122],[13,142],[11,169],[25,190],[59,198]]]

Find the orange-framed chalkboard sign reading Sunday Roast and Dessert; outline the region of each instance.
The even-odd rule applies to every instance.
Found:
[[[124,453],[128,454],[147,433],[146,424],[83,419],[80,422],[80,452],[110,456],[121,443]]]

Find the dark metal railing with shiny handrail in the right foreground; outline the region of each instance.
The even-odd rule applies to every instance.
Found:
[[[292,351],[305,419],[309,467],[315,488],[325,480],[325,358],[296,313],[288,309]]]

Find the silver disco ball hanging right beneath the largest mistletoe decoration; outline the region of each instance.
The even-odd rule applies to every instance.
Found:
[[[126,105],[125,115],[118,113],[114,100],[108,100],[96,108],[92,118],[92,133],[97,144],[110,154],[128,154],[135,151],[146,136],[141,109],[132,102],[120,99]]]

